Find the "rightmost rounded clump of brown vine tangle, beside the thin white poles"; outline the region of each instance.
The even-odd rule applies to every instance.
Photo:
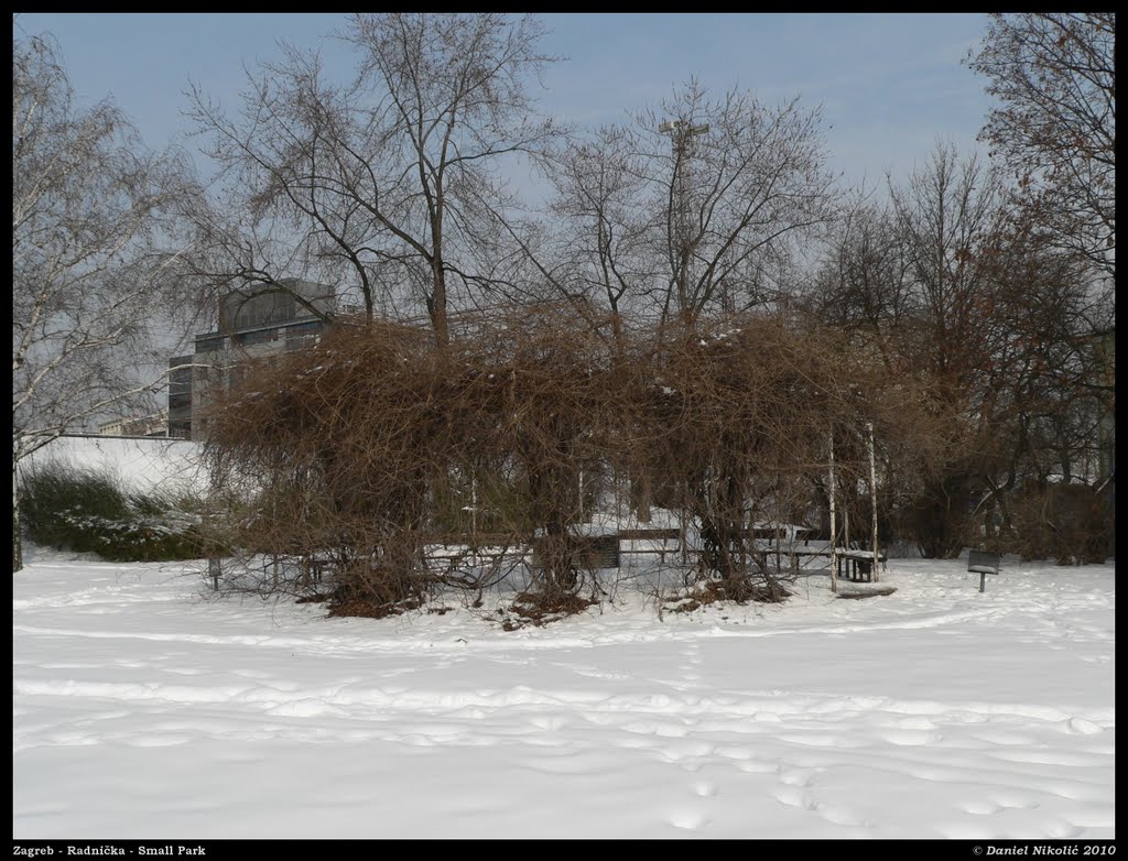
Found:
[[[786,595],[756,535],[774,529],[778,541],[783,524],[826,498],[831,443],[840,497],[869,489],[867,425],[883,464],[893,450],[906,463],[909,438],[918,453],[927,449],[927,392],[832,331],[782,318],[730,320],[650,350],[636,447],[660,504],[697,524],[697,576],[711,594]]]

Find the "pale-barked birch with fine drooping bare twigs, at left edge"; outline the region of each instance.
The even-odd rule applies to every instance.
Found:
[[[146,349],[167,303],[175,157],[108,103],[81,107],[47,36],[12,41],[12,569],[18,468],[61,434],[160,387]],[[151,357],[150,357],[151,358]],[[152,362],[165,365],[165,362]]]

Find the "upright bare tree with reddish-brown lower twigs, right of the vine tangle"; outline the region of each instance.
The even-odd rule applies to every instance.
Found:
[[[889,190],[888,212],[862,211],[844,230],[823,272],[823,310],[876,335],[872,348],[887,366],[931,383],[945,445],[919,487],[915,531],[926,556],[945,557],[963,547],[969,500],[997,442],[984,403],[1008,338],[997,282],[1004,187],[997,171],[938,144],[906,184],[890,178]]]

